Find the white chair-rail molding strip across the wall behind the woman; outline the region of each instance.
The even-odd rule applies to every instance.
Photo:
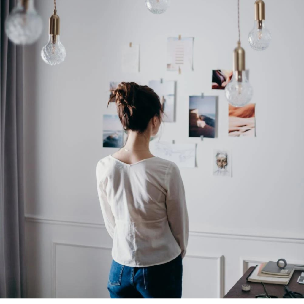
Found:
[[[68,226],[105,229],[105,225],[101,223],[84,222],[81,220],[70,220],[70,219],[51,219],[51,218],[45,218],[32,214],[25,214],[25,220],[28,223],[43,223],[43,224],[68,225]],[[304,238],[293,238],[293,237],[273,237],[273,236],[259,236],[259,235],[250,235],[250,234],[245,235],[245,234],[236,234],[236,233],[217,233],[217,232],[206,232],[206,231],[189,231],[189,235],[192,237],[211,237],[211,238],[264,241],[264,242],[275,242],[275,243],[304,244]]]

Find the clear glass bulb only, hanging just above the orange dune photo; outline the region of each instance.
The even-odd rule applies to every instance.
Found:
[[[233,71],[231,81],[225,88],[226,98],[235,107],[243,107],[250,102],[253,89],[246,77],[245,71]]]

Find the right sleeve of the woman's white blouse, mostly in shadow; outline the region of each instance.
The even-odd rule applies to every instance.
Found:
[[[166,183],[168,222],[171,232],[181,248],[181,256],[184,257],[188,244],[189,220],[185,199],[185,188],[176,164],[171,164],[171,166],[168,167]]]

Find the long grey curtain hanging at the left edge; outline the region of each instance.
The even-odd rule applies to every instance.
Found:
[[[0,297],[26,298],[23,195],[22,47],[4,31],[16,5],[1,0],[0,22]]]

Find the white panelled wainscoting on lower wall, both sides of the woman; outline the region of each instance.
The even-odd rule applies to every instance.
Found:
[[[103,224],[27,215],[28,296],[108,298],[111,245]],[[302,264],[303,250],[303,239],[191,231],[183,297],[222,298],[248,267],[281,257]]]

